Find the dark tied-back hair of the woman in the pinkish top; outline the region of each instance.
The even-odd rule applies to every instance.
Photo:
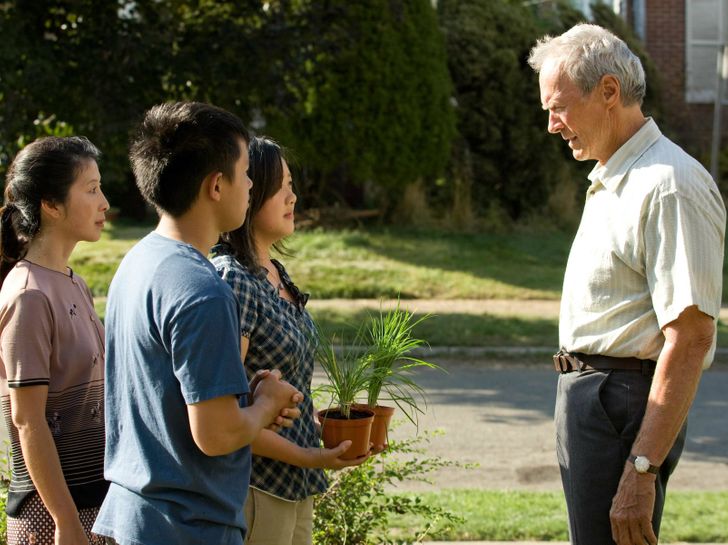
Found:
[[[0,210],[0,286],[40,230],[41,201],[66,202],[80,167],[100,156],[83,136],[48,136],[18,152],[5,177],[5,205]]]

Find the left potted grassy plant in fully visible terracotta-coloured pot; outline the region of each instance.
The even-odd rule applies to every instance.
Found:
[[[331,396],[328,409],[318,412],[321,438],[326,448],[334,448],[350,439],[351,447],[342,455],[345,460],[365,456],[370,449],[374,412],[366,407],[354,407],[356,397],[366,391],[371,372],[369,362],[356,350],[344,350],[338,356],[333,344],[317,327],[316,355],[326,373],[328,384],[321,390]]]

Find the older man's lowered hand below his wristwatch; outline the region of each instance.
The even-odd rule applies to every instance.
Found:
[[[624,465],[609,518],[612,539],[617,545],[657,545],[652,529],[655,507],[655,479],[652,473],[637,473],[634,465]]]

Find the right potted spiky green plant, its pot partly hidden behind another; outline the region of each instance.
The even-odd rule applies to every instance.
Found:
[[[423,412],[418,398],[424,403],[424,390],[412,378],[412,371],[418,367],[441,369],[434,363],[426,362],[412,355],[412,351],[427,346],[423,339],[413,336],[413,330],[425,320],[431,318],[426,314],[415,319],[414,313],[403,310],[399,300],[392,310],[379,311],[379,316],[372,317],[362,335],[362,341],[368,345],[363,359],[369,365],[369,380],[366,394],[367,407],[374,411],[374,422],[370,441],[375,453],[387,447],[389,422],[395,408],[380,405],[379,400],[392,401],[407,418],[417,425],[418,413]]]

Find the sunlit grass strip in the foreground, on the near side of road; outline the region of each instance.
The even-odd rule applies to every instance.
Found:
[[[444,541],[568,541],[566,507],[560,492],[440,490],[418,493],[424,501],[462,516],[457,527],[428,536]],[[665,504],[661,543],[728,542],[728,492],[671,492]],[[392,537],[415,535],[422,521],[397,517]]]

